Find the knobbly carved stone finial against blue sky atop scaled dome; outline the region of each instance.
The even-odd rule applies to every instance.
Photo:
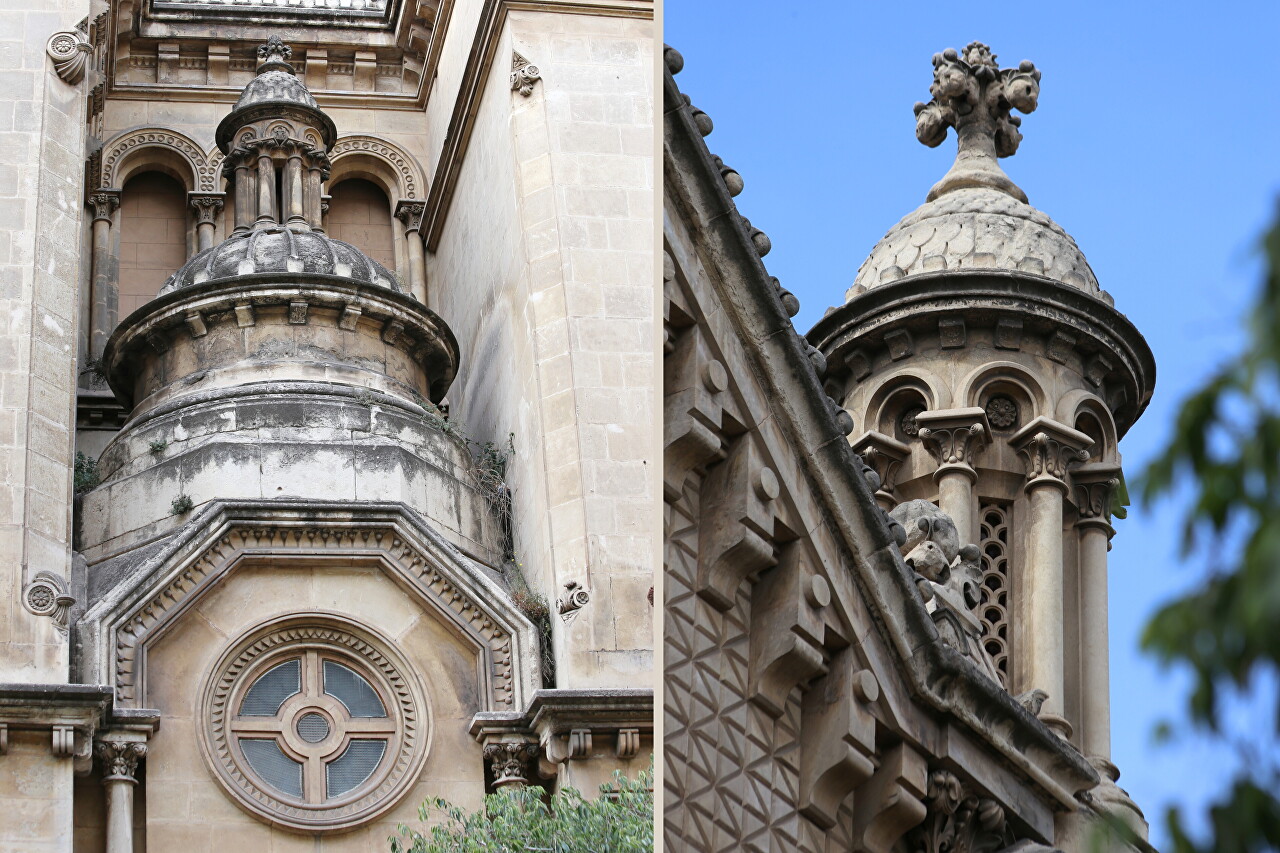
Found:
[[[997,158],[1018,151],[1021,119],[1012,110],[1036,111],[1039,78],[1039,69],[1027,60],[1018,68],[998,68],[996,55],[978,41],[963,56],[954,47],[933,55],[933,100],[915,105],[915,136],[932,149],[954,127],[959,150],[955,165],[929,190],[928,201],[966,187],[988,187],[1027,201]]]

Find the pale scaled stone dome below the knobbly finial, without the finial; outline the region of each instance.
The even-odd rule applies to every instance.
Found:
[[[1044,213],[1002,190],[950,190],[881,238],[849,292],[941,270],[1016,270],[1097,293],[1084,252]]]

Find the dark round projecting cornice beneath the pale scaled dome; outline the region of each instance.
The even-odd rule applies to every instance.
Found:
[[[827,357],[832,371],[840,373],[846,356],[879,346],[887,332],[936,328],[941,318],[956,316],[973,328],[995,327],[1001,316],[1019,318],[1028,334],[1042,333],[1046,339],[1053,330],[1070,329],[1076,351],[1101,351],[1114,357],[1110,378],[1124,394],[1115,412],[1120,437],[1151,402],[1156,360],[1137,327],[1105,300],[1032,273],[950,270],[911,275],[860,293],[815,323],[805,337]]]

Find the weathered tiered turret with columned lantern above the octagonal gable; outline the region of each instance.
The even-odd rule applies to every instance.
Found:
[[[320,229],[333,122],[273,37],[218,127],[236,228],[197,252],[106,345],[128,423],[83,498],[82,549],[183,523],[212,500],[401,501],[500,560],[471,459],[434,407],[458,368],[436,314]],[[150,532],[150,533],[148,533]]]

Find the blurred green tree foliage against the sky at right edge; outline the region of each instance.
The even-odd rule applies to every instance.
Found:
[[[1165,605],[1143,647],[1194,676],[1193,726],[1233,739],[1240,767],[1211,806],[1211,838],[1167,815],[1175,853],[1280,849],[1280,219],[1263,238],[1265,277],[1240,355],[1188,397],[1172,439],[1142,478],[1147,503],[1192,488],[1183,551],[1202,555],[1206,580]],[[1226,731],[1224,704],[1274,702],[1270,725]]]

